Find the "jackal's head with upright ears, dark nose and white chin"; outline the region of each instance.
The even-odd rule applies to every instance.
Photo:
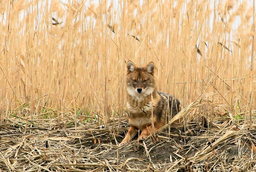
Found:
[[[127,63],[126,89],[134,98],[143,98],[156,89],[154,77],[154,63],[150,62],[145,67],[136,67],[131,61]]]

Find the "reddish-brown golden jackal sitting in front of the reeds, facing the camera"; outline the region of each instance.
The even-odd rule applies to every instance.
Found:
[[[158,130],[168,122],[168,94],[157,92],[156,79],[154,77],[154,63],[150,62],[146,67],[136,67],[131,61],[127,63],[126,76],[127,112],[130,129],[120,145],[125,144],[138,135],[139,139],[146,138],[152,132],[152,122],[155,130]],[[151,99],[153,95],[153,102]],[[153,104],[153,118],[151,108]],[[169,96],[169,110],[172,117],[180,111],[180,102]]]

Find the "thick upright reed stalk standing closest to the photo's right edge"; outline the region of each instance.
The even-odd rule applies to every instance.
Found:
[[[249,104],[250,128],[252,128],[252,64],[253,64],[254,35],[255,35],[254,15],[255,15],[255,1],[253,1],[253,10],[252,10],[253,31],[252,31],[252,55],[251,55],[251,70],[250,70],[250,104]]]

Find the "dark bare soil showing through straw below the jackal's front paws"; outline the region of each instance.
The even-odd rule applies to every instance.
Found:
[[[172,131],[172,133],[178,133],[178,131]],[[187,134],[190,135],[190,134]],[[123,140],[124,136],[116,136],[116,140],[113,138],[112,135],[103,135],[103,136],[98,136],[95,137],[95,139],[91,138],[91,139],[79,139],[76,140],[76,142],[74,142],[73,144],[80,144],[86,148],[89,149],[102,149],[104,147],[104,145],[102,146],[102,144],[106,144],[106,145],[114,145],[116,146],[116,141],[118,143],[121,143],[121,141]],[[148,144],[147,141],[147,150],[148,150],[148,154],[145,151],[145,147],[143,146],[143,142],[140,141],[139,142],[139,146],[137,141],[134,142],[134,140],[137,140],[138,137],[135,137],[133,139],[133,142],[128,143],[128,146],[121,146],[121,147],[116,147],[115,149],[118,149],[118,156],[119,158],[123,158],[123,159],[127,159],[127,158],[138,158],[140,160],[143,160],[144,162],[153,162],[153,163],[168,163],[171,161],[175,161],[176,159],[180,159],[180,156],[183,156],[184,153],[186,153],[188,151],[188,147],[189,146],[182,146],[184,145],[182,138],[180,136],[178,137],[172,137],[170,138],[170,142],[168,142],[168,140],[161,140],[159,139],[158,142],[153,142],[151,141],[150,144]],[[184,140],[184,139],[183,139]],[[189,139],[187,139],[188,141]],[[100,141],[100,144],[99,144]],[[95,144],[96,142],[96,144]],[[177,144],[179,143],[181,146],[180,148],[177,148]],[[173,146],[176,145],[176,146]],[[107,147],[107,146],[106,146]],[[191,153],[193,154],[194,151],[191,151],[189,153],[187,153],[188,155],[190,155]],[[117,151],[112,151],[111,153],[108,153],[104,156],[104,158],[109,159],[109,158],[116,158],[116,153]],[[176,154],[175,154],[176,153]],[[178,155],[177,155],[178,154]],[[150,156],[150,157],[149,157]],[[171,158],[170,158],[171,156]]]

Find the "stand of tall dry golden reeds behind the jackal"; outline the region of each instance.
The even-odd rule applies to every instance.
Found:
[[[158,90],[183,107],[212,79],[205,92],[244,116],[251,104],[255,115],[249,1],[5,0],[0,11],[1,121],[49,112],[60,123],[89,115],[108,125],[124,115],[128,60],[153,61]]]

